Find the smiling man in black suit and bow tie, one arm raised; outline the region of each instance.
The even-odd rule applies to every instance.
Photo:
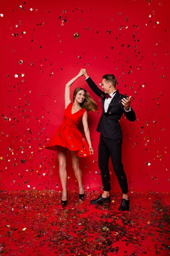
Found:
[[[116,89],[116,77],[113,74],[106,74],[102,77],[102,90],[87,75],[86,69],[81,69],[89,87],[93,92],[102,98],[102,115],[100,117],[97,132],[100,132],[100,141],[98,146],[98,166],[101,171],[103,192],[96,200],[90,201],[92,204],[110,203],[109,191],[109,157],[118,178],[122,190],[122,202],[120,211],[129,210],[128,184],[126,174],[122,164],[122,131],[119,124],[123,113],[129,121],[135,121],[135,112],[130,106],[131,96],[126,97],[120,94]]]

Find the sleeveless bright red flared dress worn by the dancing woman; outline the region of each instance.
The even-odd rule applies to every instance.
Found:
[[[88,143],[77,128],[83,114],[87,110],[81,108],[72,114],[72,105],[72,103],[68,104],[64,112],[63,123],[54,132],[54,135],[46,148],[57,150],[57,145],[59,145],[68,148],[71,151],[75,151],[74,153],[76,157],[87,157],[90,155]]]

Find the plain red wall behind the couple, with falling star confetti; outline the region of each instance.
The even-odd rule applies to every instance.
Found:
[[[115,74],[120,93],[133,97],[137,120],[121,119],[129,191],[169,191],[169,8],[168,0],[0,1],[2,191],[61,190],[57,153],[44,146],[62,122],[65,83],[80,68],[97,85]],[[83,184],[101,190],[102,106],[84,77],[72,92],[79,85],[99,106],[88,114],[95,151],[80,160]],[[67,169],[68,188],[75,189],[69,154]],[[110,172],[112,191],[120,191],[111,163]]]

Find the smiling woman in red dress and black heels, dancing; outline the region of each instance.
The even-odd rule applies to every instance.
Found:
[[[87,111],[98,110],[96,102],[89,93],[83,88],[76,88],[73,94],[73,103],[70,99],[70,87],[78,77],[82,76],[80,71],[77,76],[72,78],[65,85],[65,112],[63,123],[54,132],[52,140],[46,146],[48,149],[57,150],[59,160],[59,176],[63,189],[61,204],[64,207],[67,204],[67,171],[66,171],[66,155],[67,151],[71,151],[72,167],[78,181],[80,199],[84,197],[84,186],[82,184],[82,172],[79,166],[79,158],[93,155],[92,142],[87,123]],[[83,137],[77,126],[82,120],[86,139]],[[87,141],[86,141],[87,140]]]

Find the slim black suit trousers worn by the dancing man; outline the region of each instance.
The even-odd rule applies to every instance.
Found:
[[[111,190],[110,174],[109,174],[109,158],[113,169],[118,178],[122,193],[128,193],[128,184],[126,174],[122,164],[122,141],[108,139],[100,133],[100,141],[98,146],[98,166],[101,171],[102,185],[104,191]]]

